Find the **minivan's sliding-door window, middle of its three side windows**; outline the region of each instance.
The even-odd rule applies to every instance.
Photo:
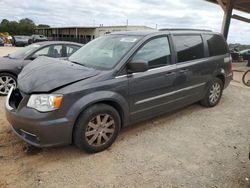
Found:
[[[204,58],[204,45],[200,35],[174,36],[178,63]]]

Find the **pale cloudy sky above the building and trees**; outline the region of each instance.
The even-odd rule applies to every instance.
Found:
[[[204,0],[0,0],[0,20],[50,26],[146,25],[220,31],[223,11]],[[235,11],[242,16],[249,14]],[[250,44],[250,24],[232,20],[229,42]]]

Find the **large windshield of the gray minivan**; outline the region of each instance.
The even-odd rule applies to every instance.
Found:
[[[101,70],[113,68],[134,46],[139,36],[107,35],[99,37],[69,57],[69,61]]]

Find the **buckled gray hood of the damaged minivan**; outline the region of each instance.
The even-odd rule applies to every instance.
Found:
[[[100,71],[66,60],[39,57],[18,75],[18,88],[24,93],[50,92],[59,87],[84,80]]]

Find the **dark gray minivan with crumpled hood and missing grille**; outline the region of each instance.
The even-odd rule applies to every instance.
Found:
[[[190,105],[213,107],[232,79],[225,39],[203,30],[113,33],[67,60],[41,57],[9,92],[6,116],[26,142],[111,146],[121,128]]]

